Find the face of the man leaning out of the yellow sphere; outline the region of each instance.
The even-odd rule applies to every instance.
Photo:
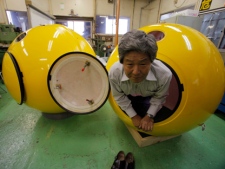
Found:
[[[148,55],[139,52],[129,52],[123,59],[124,72],[133,83],[143,81],[151,67]]]

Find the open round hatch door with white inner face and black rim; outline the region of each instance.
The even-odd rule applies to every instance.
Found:
[[[55,102],[66,111],[87,114],[106,102],[110,85],[107,70],[97,58],[72,52],[51,66],[48,89]]]

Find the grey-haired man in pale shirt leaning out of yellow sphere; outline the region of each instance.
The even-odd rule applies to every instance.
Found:
[[[127,32],[118,45],[119,61],[109,70],[112,94],[134,126],[151,131],[154,117],[168,95],[171,71],[156,60],[153,35],[141,30]]]

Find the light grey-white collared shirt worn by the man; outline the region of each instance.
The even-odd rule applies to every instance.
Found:
[[[129,117],[134,117],[137,113],[127,95],[151,96],[151,105],[147,113],[155,116],[166,101],[171,79],[171,71],[159,60],[153,61],[146,79],[140,83],[133,83],[129,80],[123,70],[123,64],[119,61],[114,63],[109,70],[109,82],[113,97]]]

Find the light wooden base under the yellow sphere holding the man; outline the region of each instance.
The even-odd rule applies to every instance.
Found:
[[[160,143],[162,141],[166,141],[166,140],[172,139],[174,137],[180,136],[180,135],[175,135],[175,136],[161,136],[161,137],[158,137],[158,136],[142,137],[138,131],[134,130],[133,128],[129,127],[126,124],[125,124],[125,126],[129,130],[130,134],[133,136],[134,140],[137,142],[139,147],[149,146],[152,144]]]

